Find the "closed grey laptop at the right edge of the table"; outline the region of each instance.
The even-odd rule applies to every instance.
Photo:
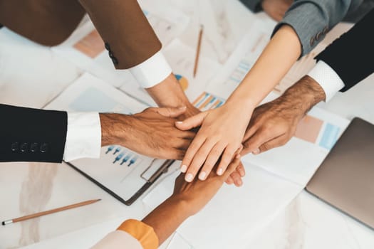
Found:
[[[353,119],[306,191],[374,229],[374,125]]]

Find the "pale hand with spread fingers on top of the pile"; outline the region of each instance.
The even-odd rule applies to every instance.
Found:
[[[176,122],[176,127],[181,130],[201,125],[182,160],[181,171],[187,172],[185,180],[192,181],[200,168],[199,179],[206,179],[219,157],[221,160],[217,166],[217,174],[223,174],[234,153],[241,147],[250,117],[251,111],[243,115],[237,103],[227,102],[217,109]]]

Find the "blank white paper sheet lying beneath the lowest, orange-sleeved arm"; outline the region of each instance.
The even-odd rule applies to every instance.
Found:
[[[202,211],[177,229],[193,248],[241,248],[302,189],[253,164],[244,162],[244,166],[243,186],[224,185]],[[152,209],[170,196],[178,174],[175,172],[158,184],[143,203]],[[171,245],[169,248],[177,249]]]

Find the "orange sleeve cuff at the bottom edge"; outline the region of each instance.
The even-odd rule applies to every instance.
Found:
[[[139,240],[144,249],[157,249],[158,237],[151,226],[137,220],[124,221],[117,230],[125,231]]]

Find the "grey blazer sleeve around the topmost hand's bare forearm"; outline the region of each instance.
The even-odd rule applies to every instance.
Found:
[[[326,33],[339,21],[342,21],[348,11],[355,10],[363,0],[295,0],[273,31],[288,24],[296,31],[301,42],[301,56],[309,53],[323,40]]]

